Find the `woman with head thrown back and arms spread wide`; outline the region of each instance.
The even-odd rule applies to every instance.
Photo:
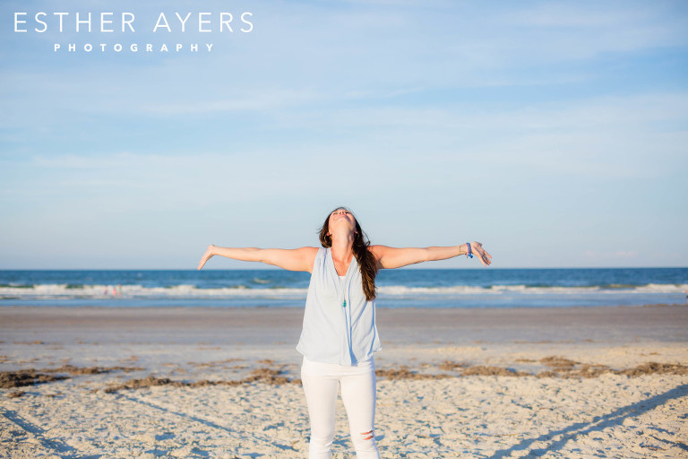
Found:
[[[375,369],[381,349],[375,326],[375,274],[380,269],[444,260],[458,255],[485,266],[492,256],[478,242],[455,247],[370,246],[354,215],[335,209],[320,230],[323,248],[226,248],[210,246],[198,269],[213,255],[274,264],[311,273],[304,325],[297,351],[304,355],[301,379],[311,420],[309,459],[331,457],[334,407],[341,399],[348,414],[357,457],[379,459],[374,439]]]

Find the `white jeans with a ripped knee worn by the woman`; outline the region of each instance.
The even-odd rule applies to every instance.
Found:
[[[341,401],[356,455],[380,459],[375,445],[375,365],[373,358],[356,366],[320,363],[306,359],[301,367],[305,402],[311,418],[308,459],[330,459],[334,438],[334,406],[341,386]]]

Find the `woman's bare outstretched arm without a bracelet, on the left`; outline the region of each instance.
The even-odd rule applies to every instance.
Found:
[[[256,248],[256,247],[217,247],[209,246],[198,262],[201,269],[213,255],[226,256],[245,262],[262,262],[274,264],[289,271],[311,272],[318,253],[316,247],[285,248]]]

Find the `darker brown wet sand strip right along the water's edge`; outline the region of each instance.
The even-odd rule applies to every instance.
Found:
[[[602,307],[376,307],[378,328],[384,326],[457,326],[466,320],[481,326],[522,327],[553,325],[555,320],[576,320],[585,326],[635,326],[637,331],[649,323],[678,329],[688,325],[688,306],[602,306]],[[94,328],[144,325],[175,327],[184,321],[198,326],[264,325],[300,327],[303,307],[0,307],[0,333],[16,326],[31,327],[82,325]],[[236,322],[236,321],[239,322]],[[445,320],[450,320],[447,324]],[[602,322],[600,322],[602,321]],[[571,325],[571,324],[568,324]],[[676,326],[675,326],[676,325]],[[575,333],[572,329],[569,333]]]

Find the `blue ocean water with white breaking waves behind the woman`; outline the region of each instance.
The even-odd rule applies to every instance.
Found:
[[[310,274],[283,270],[0,271],[0,307],[303,307]],[[378,307],[685,304],[688,268],[398,269]]]

